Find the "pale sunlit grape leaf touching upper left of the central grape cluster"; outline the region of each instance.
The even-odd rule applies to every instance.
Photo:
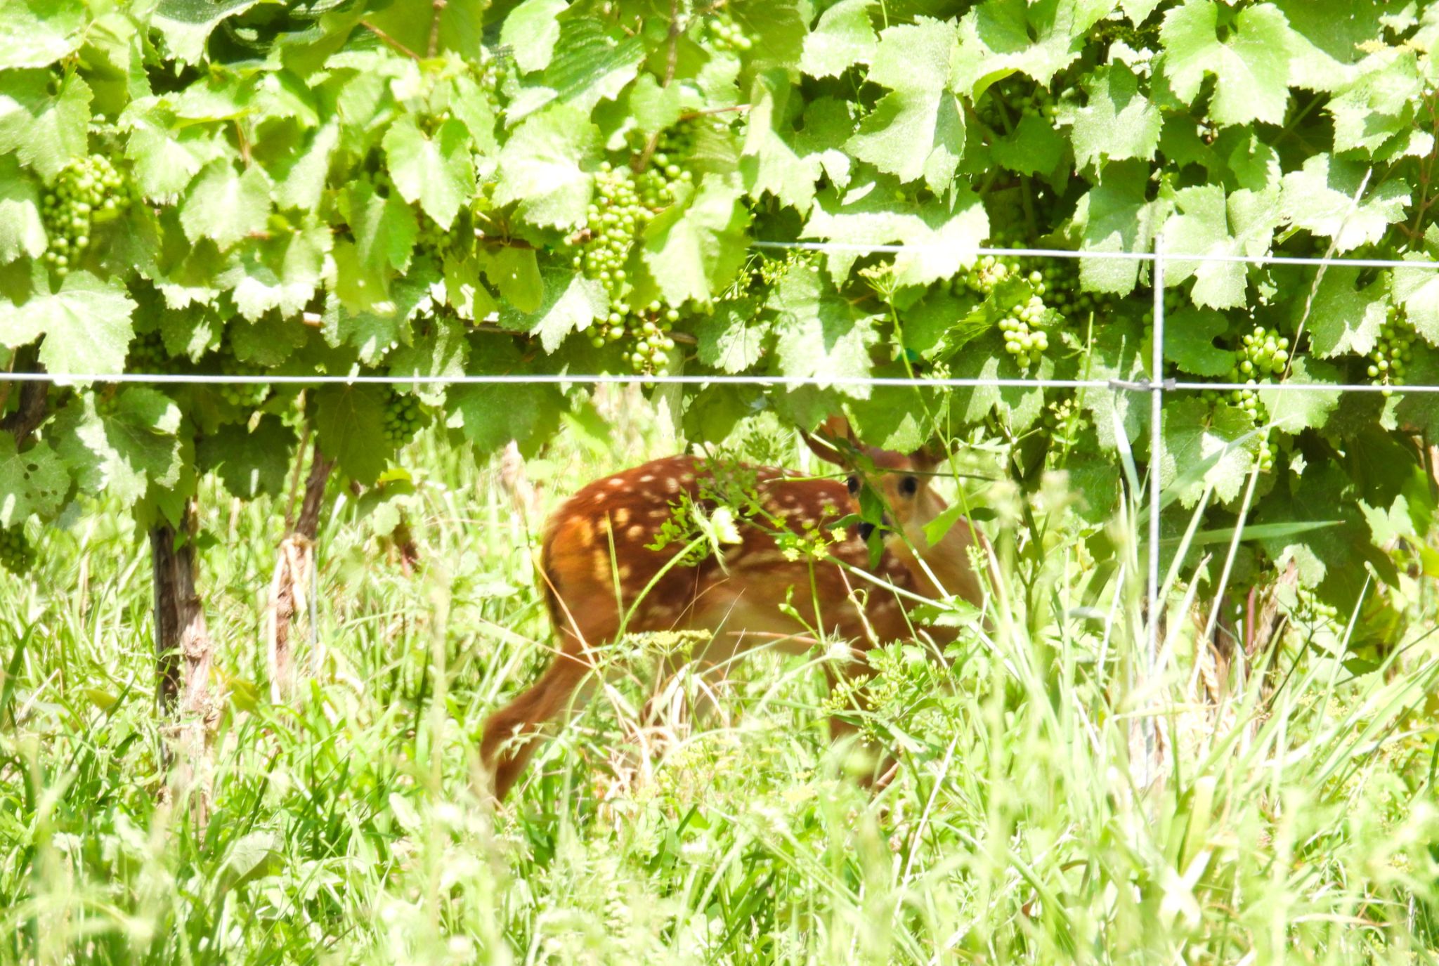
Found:
[[[519,203],[519,216],[541,227],[576,227],[586,220],[590,176],[581,161],[599,147],[590,119],[553,107],[521,124],[499,150],[495,204]]]

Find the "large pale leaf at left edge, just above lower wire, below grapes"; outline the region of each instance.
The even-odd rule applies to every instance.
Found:
[[[135,302],[115,282],[71,272],[53,295],[35,295],[20,305],[0,299],[0,346],[16,348],[45,335],[40,361],[50,373],[118,373],[134,311]]]

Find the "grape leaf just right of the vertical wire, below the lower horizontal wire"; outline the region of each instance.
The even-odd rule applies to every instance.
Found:
[[[1253,468],[1258,438],[1249,436],[1239,442],[1252,430],[1253,423],[1235,406],[1210,406],[1202,399],[1166,400],[1160,482],[1170,487],[1180,478],[1183,468],[1197,466],[1222,453],[1202,479],[1190,481],[1176,497],[1181,505],[1193,507],[1207,484],[1215,488],[1220,501],[1233,500]]]

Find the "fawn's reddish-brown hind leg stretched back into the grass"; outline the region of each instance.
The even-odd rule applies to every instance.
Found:
[[[505,800],[505,795],[540,749],[540,730],[550,721],[568,716],[580,700],[580,685],[594,671],[584,656],[580,639],[570,631],[561,631],[560,636],[560,654],[540,680],[485,718],[479,757],[494,775],[496,802]]]

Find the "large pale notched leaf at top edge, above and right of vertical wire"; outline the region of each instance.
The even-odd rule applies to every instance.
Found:
[[[1278,7],[1245,7],[1220,40],[1219,4],[1187,0],[1160,27],[1163,73],[1174,95],[1191,104],[1206,73],[1215,75],[1209,114],[1216,122],[1282,124],[1289,102],[1289,22]]]

